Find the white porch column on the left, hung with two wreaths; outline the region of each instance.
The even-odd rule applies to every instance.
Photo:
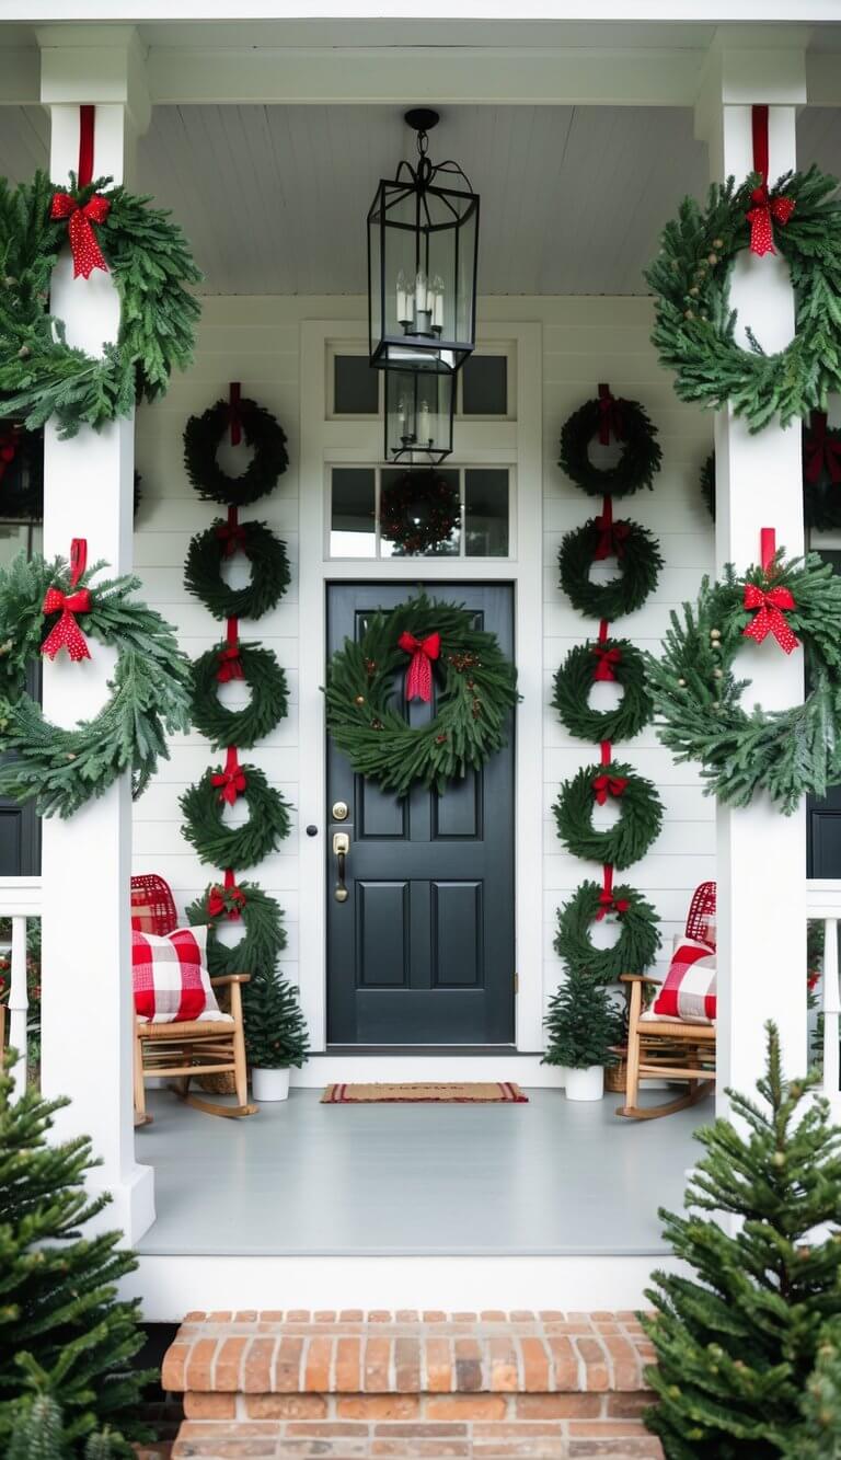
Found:
[[[67,182],[79,158],[79,104],[96,104],[93,177],[124,180],[133,123],[128,107],[126,36],[89,54],[69,28],[67,50],[39,36],[42,102],[51,114],[50,172]],[[61,36],[58,36],[61,39]],[[121,95],[123,91],[123,95]],[[101,98],[107,101],[101,102]],[[53,276],[53,310],[67,339],[101,353],[114,339],[120,305],[111,277],[95,270],[73,279],[69,248]],[[70,540],[88,540],[88,562],[105,559],[115,572],[133,559],[134,420],[83,428],[60,441],[45,432],[44,553],[69,555]],[[70,726],[98,712],[108,694],[114,653],[91,641],[92,658],[72,664],[66,654],[44,664],[44,711]],[[92,1191],[110,1191],[102,1226],[121,1226],[128,1242],[155,1219],[153,1172],[134,1161],[131,1107],[131,965],[128,879],[131,872],[131,787],[128,775],[70,821],[50,818],[42,828],[42,1083],[48,1096],[72,1104],[55,1121],[57,1139],[86,1133],[102,1165]]]

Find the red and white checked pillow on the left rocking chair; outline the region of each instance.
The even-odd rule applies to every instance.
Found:
[[[147,1023],[225,1019],[207,972],[207,929],[177,927],[166,937],[131,933],[134,1009]]]

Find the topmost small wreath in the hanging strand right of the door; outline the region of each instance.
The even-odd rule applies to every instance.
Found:
[[[599,467],[590,460],[590,442],[603,426],[606,407],[613,435],[622,442],[622,456],[615,466]],[[644,486],[651,489],[661,460],[657,428],[637,400],[587,400],[561,429],[558,466],[590,496],[631,496]]]

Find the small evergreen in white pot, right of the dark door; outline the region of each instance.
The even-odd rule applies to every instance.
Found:
[[[619,1010],[604,987],[590,974],[569,969],[543,1022],[549,1031],[543,1064],[565,1067],[567,1099],[602,1099],[604,1066],[613,1060],[610,1047],[621,1031]]]

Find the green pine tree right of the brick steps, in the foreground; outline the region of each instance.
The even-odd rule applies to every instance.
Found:
[[[816,1082],[783,1079],[768,1025],[762,1104],[729,1091],[739,1129],[717,1120],[696,1133],[705,1155],[688,1215],[660,1212],[698,1278],[656,1272],[647,1294],[660,1402],[645,1419],[669,1460],[772,1460],[802,1422],[822,1332],[841,1317],[841,1130]]]

